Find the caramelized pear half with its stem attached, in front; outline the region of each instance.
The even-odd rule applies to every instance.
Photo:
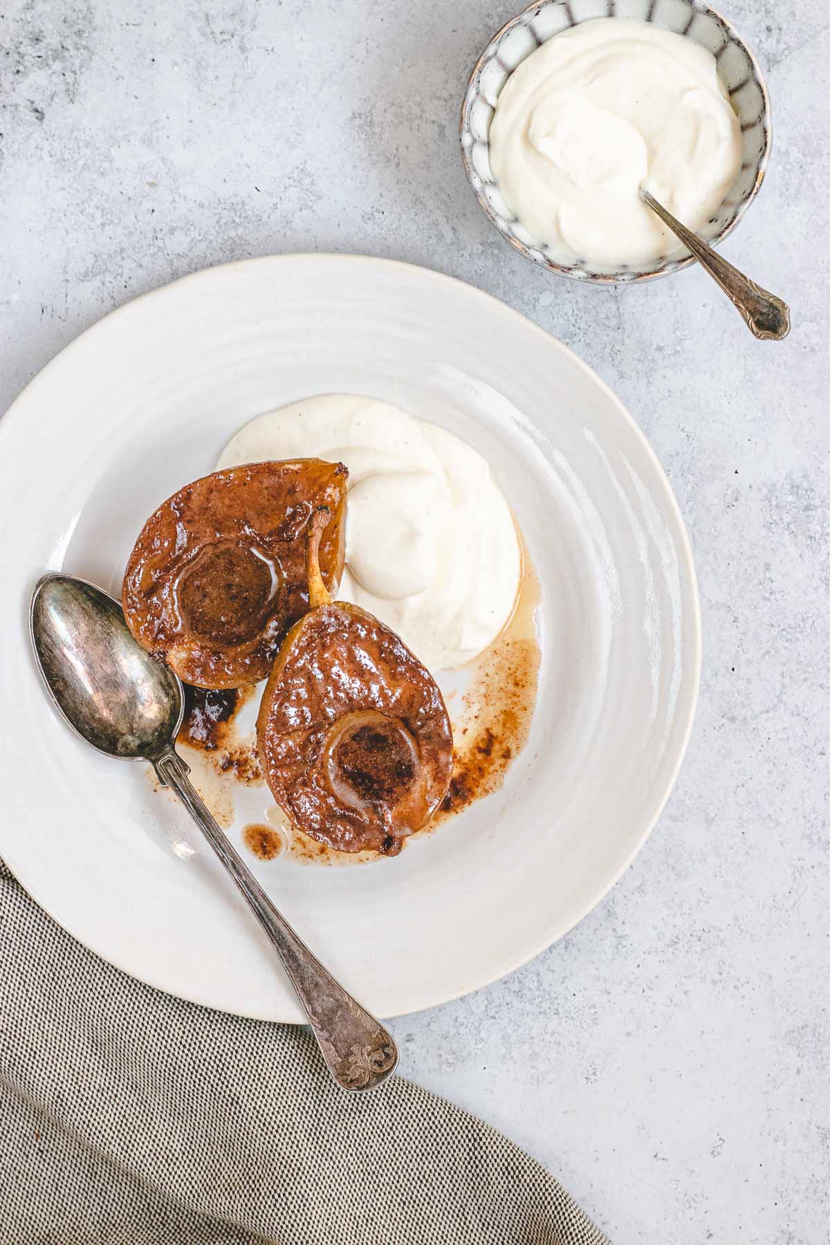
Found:
[[[441,690],[371,614],[332,601],[309,524],[311,610],[289,631],[256,721],[274,798],[299,829],[337,852],[396,855],[447,794],[453,735]]]

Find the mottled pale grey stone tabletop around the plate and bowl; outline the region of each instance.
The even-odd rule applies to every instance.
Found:
[[[361,251],[549,329],[668,472],[704,624],[668,809],[562,942],[394,1025],[408,1076],[538,1155],[618,1245],[830,1238],[830,36],[821,0],[723,2],[775,128],[724,253],[790,301],[783,345],[699,271],[579,288],[499,240],[457,120],[509,2],[0,0],[0,408],[170,278]]]

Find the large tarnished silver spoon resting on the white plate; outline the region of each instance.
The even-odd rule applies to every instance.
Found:
[[[30,625],[40,672],[68,725],[108,757],[148,761],[182,801],[268,934],[337,1084],[381,1084],[398,1062],[392,1036],[297,937],[188,778],[173,746],[184,712],[178,676],[133,639],[118,601],[83,579],[44,575]]]

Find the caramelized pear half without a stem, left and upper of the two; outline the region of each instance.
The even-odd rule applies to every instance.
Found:
[[[286,631],[309,609],[306,528],[331,523],[321,576],[340,583],[342,463],[253,463],[185,484],[151,514],[129,555],[122,604],[138,642],[198,687],[265,679]]]

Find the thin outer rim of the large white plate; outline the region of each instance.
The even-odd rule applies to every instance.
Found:
[[[68,341],[65,346],[62,346],[41,369],[39,369],[39,371],[31,377],[31,380],[22,387],[22,390],[12,400],[10,406],[6,408],[5,413],[0,417],[0,456],[2,454],[2,448],[6,442],[6,438],[10,435],[10,427],[14,426],[16,431],[19,421],[25,415],[25,411],[20,410],[24,403],[24,398],[27,400],[31,396],[31,392],[37,390],[40,382],[47,376],[47,374],[51,372],[51,370],[58,364],[60,360],[62,360],[65,355],[73,351],[76,347],[80,347],[82,341],[90,339],[91,335],[93,335],[97,330],[100,330],[113,316],[118,316],[119,314],[127,311],[127,309],[132,308],[134,304],[158,296],[159,294],[172,289],[173,286],[180,286],[188,283],[195,285],[198,281],[209,280],[213,274],[224,271],[225,269],[240,269],[244,266],[254,266],[254,265],[270,265],[270,264],[279,264],[280,261],[326,263],[331,260],[335,260],[341,264],[356,264],[367,268],[381,266],[389,270],[403,270],[407,274],[414,275],[417,279],[423,279],[428,283],[434,281],[438,283],[439,285],[449,284],[452,286],[460,286],[464,291],[469,291],[475,298],[482,299],[484,303],[492,304],[498,310],[498,314],[506,312],[514,320],[521,321],[521,324],[525,327],[534,330],[534,332],[539,335],[549,346],[553,345],[560,352],[569,356],[570,360],[572,360],[579,366],[579,369],[582,370],[582,372],[587,374],[590,380],[595,385],[599,385],[600,388],[605,392],[605,395],[611,398],[617,415],[622,418],[622,422],[628,427],[630,432],[633,433],[635,438],[638,441],[641,446],[641,449],[645,452],[647,459],[650,461],[652,468],[655,469],[656,478],[660,481],[662,486],[666,500],[668,503],[672,518],[677,528],[677,534],[679,538],[677,545],[678,554],[682,555],[684,570],[688,575],[688,583],[691,588],[692,610],[689,618],[687,619],[687,625],[689,626],[689,630],[693,631],[692,636],[693,651],[692,651],[692,670],[688,676],[689,701],[688,701],[686,722],[683,723],[682,737],[677,747],[674,762],[671,767],[671,771],[666,776],[663,783],[664,789],[662,791],[660,799],[656,803],[655,812],[651,819],[643,823],[643,828],[640,835],[637,837],[636,843],[633,844],[631,850],[626,854],[617,872],[605,884],[605,886],[600,891],[597,891],[597,894],[582,909],[580,909],[576,916],[566,920],[561,925],[561,928],[555,929],[553,933],[546,933],[541,937],[541,940],[535,941],[533,944],[533,947],[530,950],[520,951],[515,959],[510,959],[510,962],[506,967],[499,966],[492,975],[487,976],[484,980],[478,981],[475,985],[467,985],[457,990],[445,991],[441,996],[433,997],[429,1001],[417,1000],[414,1002],[414,1006],[407,1007],[406,1010],[381,1012],[383,1018],[388,1020],[399,1016],[414,1015],[419,1011],[426,1011],[429,1007],[441,1007],[444,1003],[454,1002],[455,1000],[463,998],[467,995],[472,995],[478,992],[479,990],[484,990],[488,986],[493,985],[494,982],[510,976],[518,969],[524,967],[524,965],[529,964],[531,960],[536,959],[536,956],[541,955],[543,951],[546,951],[555,942],[559,942],[567,934],[570,934],[571,930],[574,930],[582,920],[585,920],[586,916],[590,915],[590,913],[592,913],[596,908],[600,906],[600,904],[607,898],[613,886],[616,886],[622,875],[631,867],[635,858],[643,849],[647,839],[651,837],[655,827],[657,825],[657,822],[660,820],[660,818],[664,812],[668,798],[674,789],[678,773],[686,758],[688,745],[692,737],[692,731],[694,728],[694,720],[699,700],[702,652],[703,652],[701,596],[698,589],[697,570],[694,565],[694,554],[692,549],[692,543],[689,540],[689,535],[686,528],[686,523],[683,520],[682,512],[679,509],[679,504],[674,496],[674,491],[671,486],[668,476],[666,474],[666,471],[663,469],[651,442],[646,437],[645,432],[642,431],[637,421],[633,418],[633,416],[631,415],[626,405],[622,402],[622,400],[617,397],[611,386],[606,381],[604,381],[602,377],[599,376],[597,372],[595,372],[594,369],[589,364],[586,364],[585,360],[581,359],[575,350],[565,345],[565,342],[560,341],[559,337],[555,337],[553,334],[548,332],[546,329],[543,329],[534,320],[529,319],[529,316],[524,315],[521,311],[516,311],[515,308],[510,306],[508,303],[504,303],[495,295],[489,294],[485,290],[482,290],[478,285],[473,285],[470,281],[464,281],[460,278],[452,276],[448,273],[442,273],[437,269],[427,268],[423,264],[412,264],[406,260],[387,259],[385,256],[362,255],[355,253],[338,253],[338,251],[285,251],[276,254],[245,256],[241,259],[228,260],[220,264],[212,264],[207,268],[195,269],[192,273],[185,273],[184,275],[174,278],[170,281],[166,281],[163,285],[157,285],[151,290],[144,290],[142,294],[138,294],[134,298],[128,299],[126,303],[121,303],[111,311],[107,311],[105,315],[100,316],[96,321],[93,321],[93,324],[88,325],[80,334],[77,334],[71,341]],[[35,574],[36,574],[36,568],[32,570],[32,575]],[[20,585],[16,584],[15,586],[19,588]],[[27,656],[31,657],[31,654],[29,654]],[[47,703],[47,701],[45,700],[44,703]],[[24,888],[24,890],[30,895],[30,898],[34,899],[35,903],[37,903],[39,906],[54,921],[56,921],[57,925],[61,926],[61,929],[66,930],[67,934],[70,934],[76,941],[81,942],[81,945],[85,946],[93,955],[102,959],[106,964],[112,965],[114,969],[118,969],[118,971],[127,974],[127,976],[132,977],[133,980],[141,981],[148,987],[153,990],[159,990],[161,992],[167,994],[170,997],[182,998],[183,1001],[190,1002],[194,1006],[209,1007],[214,1011],[220,1011],[226,1015],[244,1016],[245,1018],[250,1020],[264,1020],[270,1023],[282,1023],[282,1025],[305,1023],[305,1021],[297,1021],[297,1020],[287,1020],[287,1021],[274,1020],[273,1016],[266,1016],[264,1015],[263,1011],[260,1011],[259,1015],[256,1015],[254,1008],[251,1008],[249,1012],[245,1013],[230,1011],[229,1008],[223,1007],[220,1003],[217,1003],[214,1000],[195,997],[195,995],[199,994],[198,991],[194,991],[193,995],[185,997],[184,995],[173,994],[164,986],[158,985],[154,981],[149,981],[147,977],[138,976],[133,970],[126,967],[122,962],[119,962],[118,957],[111,957],[110,955],[103,955],[97,949],[91,947],[82,937],[80,937],[75,933],[71,921],[67,921],[57,916],[57,914],[52,911],[50,906],[42,903],[42,900],[37,895],[37,888],[36,886],[30,888],[30,885],[27,885],[20,878],[17,869],[15,868],[15,862],[14,859],[9,859],[7,852],[4,850],[0,859],[5,862],[6,867],[9,868],[9,870],[11,872],[12,876],[19,883],[19,885]]]

